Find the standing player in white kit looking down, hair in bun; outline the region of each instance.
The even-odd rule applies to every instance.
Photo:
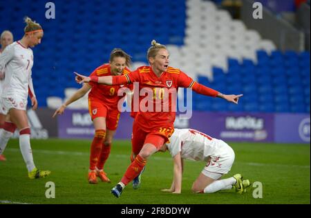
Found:
[[[28,169],[28,177],[36,179],[46,177],[50,171],[38,170],[35,167],[30,147],[30,127],[26,107],[29,93],[32,110],[37,109],[37,99],[31,79],[33,54],[30,47],[41,43],[44,32],[39,23],[30,18],[26,17],[25,22],[27,26],[24,29],[23,39],[10,44],[0,55],[0,72],[6,73],[0,99],[0,110],[4,115],[10,115],[6,118],[6,123],[0,133],[0,155],[17,127],[19,129],[19,147]]]

